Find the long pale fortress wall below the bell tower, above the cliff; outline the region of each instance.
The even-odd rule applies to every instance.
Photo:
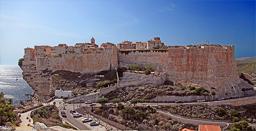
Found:
[[[36,58],[36,70],[67,70],[89,72],[109,70],[118,66],[117,49],[106,49],[87,54],[70,53],[63,57]]]

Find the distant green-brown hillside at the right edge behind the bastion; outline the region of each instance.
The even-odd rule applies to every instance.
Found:
[[[238,59],[238,60],[237,60]],[[237,70],[240,73],[247,73],[249,75],[256,73],[256,57],[249,57],[239,61],[241,59],[236,58]]]

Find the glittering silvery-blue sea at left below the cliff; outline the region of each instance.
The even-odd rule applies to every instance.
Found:
[[[32,88],[23,80],[22,70],[18,65],[0,65],[0,92],[6,99],[13,99],[13,106],[20,106],[20,100],[26,103]]]

